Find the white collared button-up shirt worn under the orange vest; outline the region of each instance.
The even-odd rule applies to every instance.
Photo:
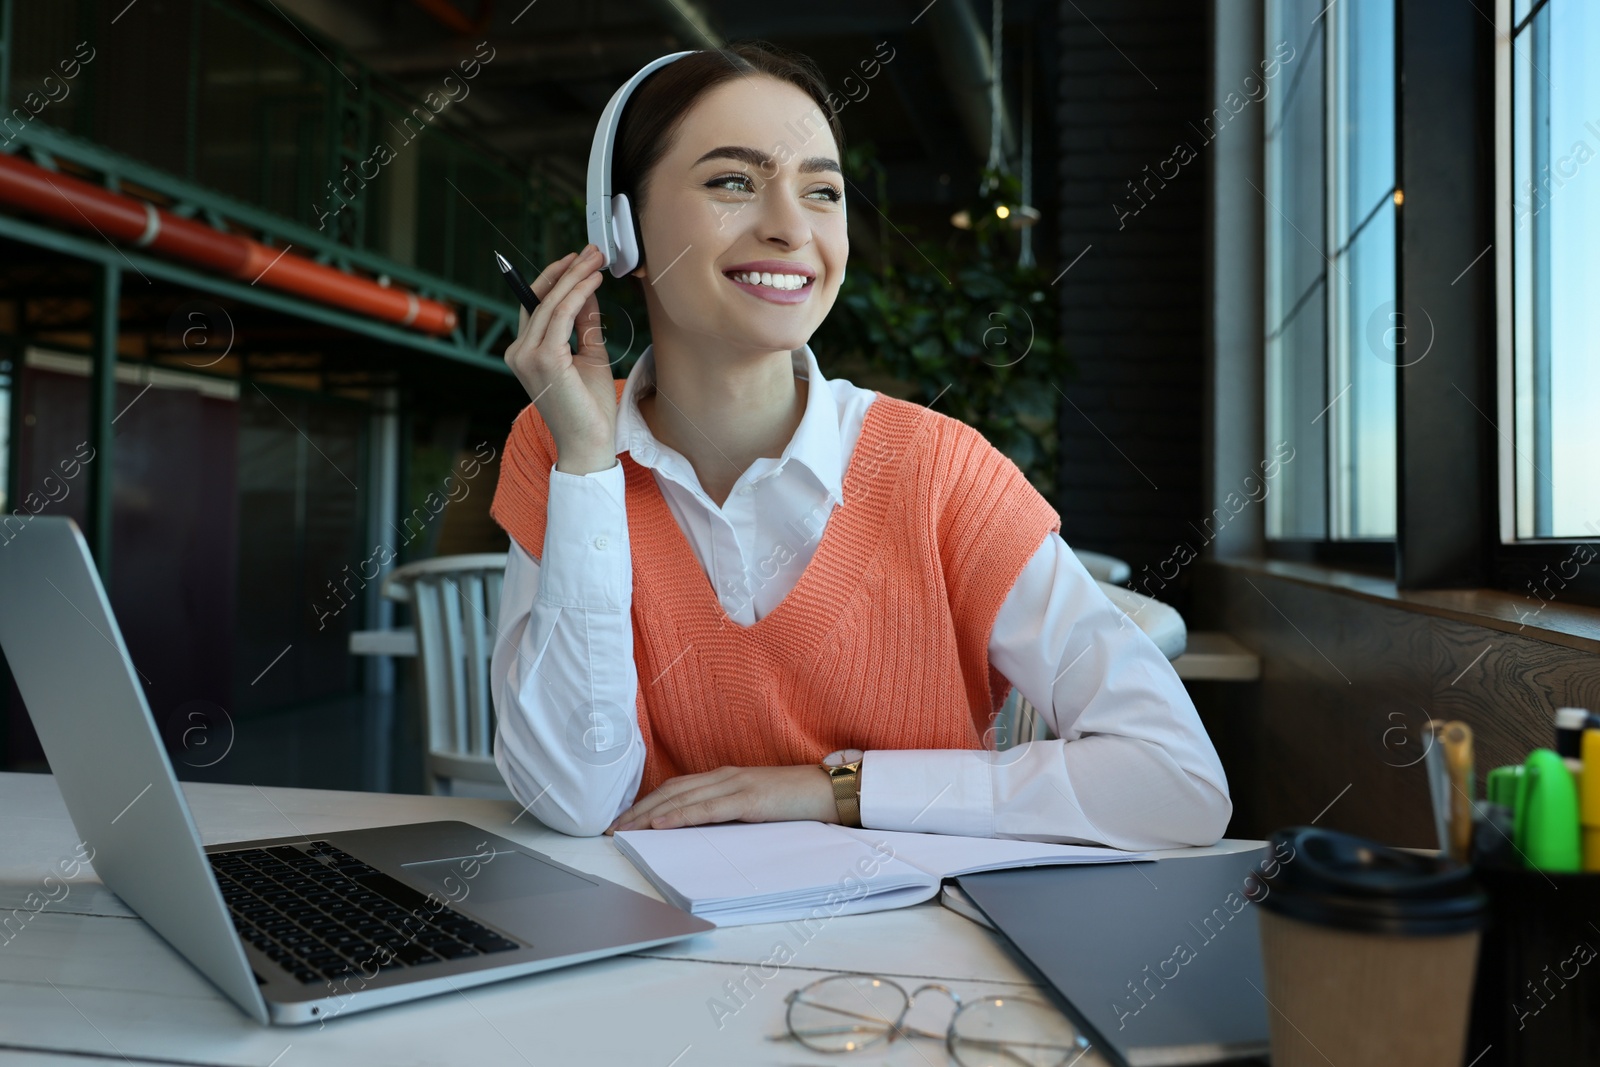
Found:
[[[843,474],[875,398],[824,379],[811,346],[794,352],[794,368],[808,381],[794,438],[776,459],[750,464],[722,507],[638,411],[654,384],[651,349],[618,408],[616,454],[632,453],[654,472],[739,625],[778,606],[811,561],[821,530],[787,534],[843,501]],[[622,464],[586,475],[552,464],[544,558],[512,541],[490,669],[494,761],[517,800],[565,833],[605,830],[643,781],[632,585]],[[1234,811],[1227,779],[1182,681],[1054,531],[1002,603],[989,659],[1056,739],[1003,752],[869,750],[862,825],[1128,849],[1222,837]]]

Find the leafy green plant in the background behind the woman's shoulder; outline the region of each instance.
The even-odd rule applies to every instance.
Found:
[[[843,166],[888,216],[870,147],[851,146]],[[987,192],[968,206],[971,229],[952,226],[933,242],[885,226],[886,262],[853,256],[811,347],[824,366],[859,368],[872,387],[976,427],[1053,498],[1056,384],[1070,371],[1056,339],[1059,299],[1045,267],[1018,266],[1019,232],[995,214],[997,203],[1022,202],[1018,179],[989,168],[979,178]]]

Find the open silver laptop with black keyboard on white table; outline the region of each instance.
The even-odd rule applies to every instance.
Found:
[[[0,545],[0,646],[101,881],[258,1022],[304,1024],[714,929],[466,822],[202,848],[70,518]]]

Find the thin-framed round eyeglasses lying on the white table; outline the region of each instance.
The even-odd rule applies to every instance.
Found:
[[[912,1003],[928,990],[955,1003],[944,1033],[906,1025]],[[792,1038],[816,1053],[854,1053],[922,1037],[942,1040],[962,1067],[1070,1067],[1091,1048],[1059,1011],[1029,997],[992,995],[963,1005],[950,989],[933,982],[907,993],[875,974],[834,974],[784,1000],[789,1032],[773,1040]]]

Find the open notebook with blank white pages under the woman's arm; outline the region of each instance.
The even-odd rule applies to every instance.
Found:
[[[1149,859],[1094,845],[858,830],[832,822],[725,822],[613,835],[650,885],[718,926],[882,912],[931,899],[955,875]]]

